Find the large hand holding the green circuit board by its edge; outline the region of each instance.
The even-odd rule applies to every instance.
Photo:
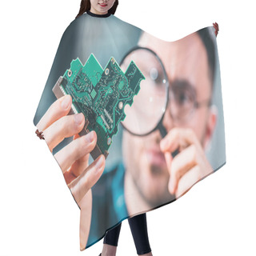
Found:
[[[85,117],[82,113],[67,115],[70,112],[71,103],[70,95],[58,98],[42,116],[37,128],[43,132],[51,152],[64,138],[74,136],[72,142],[54,154],[54,158],[62,169],[66,184],[75,201],[81,208],[82,198],[102,175],[105,157],[99,156],[88,166],[90,152],[97,142],[97,134],[91,131],[82,137],[78,135],[85,125]],[[88,200],[91,201],[91,198]]]

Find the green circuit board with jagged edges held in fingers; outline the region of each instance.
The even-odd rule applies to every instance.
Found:
[[[114,58],[103,70],[94,54],[90,54],[84,66],[79,58],[73,60],[70,69],[56,82],[53,91],[57,98],[66,94],[72,97],[69,114],[82,112],[86,118],[79,135],[91,130],[97,134],[97,145],[91,152],[94,159],[100,154],[107,157],[118,124],[126,117],[124,108],[132,105],[142,79],[145,77],[133,61],[124,74]]]

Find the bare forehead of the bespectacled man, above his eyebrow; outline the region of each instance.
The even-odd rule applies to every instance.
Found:
[[[154,50],[162,59],[168,78],[171,81],[185,79],[196,90],[209,86],[209,67],[206,48],[197,33],[174,42],[166,42],[143,33],[138,44]]]

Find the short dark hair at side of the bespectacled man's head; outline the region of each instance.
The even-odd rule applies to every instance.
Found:
[[[212,88],[214,87],[214,77],[216,70],[216,45],[214,42],[214,33],[211,30],[213,27],[206,27],[202,30],[198,30],[197,34],[201,38],[203,45],[206,47],[206,54],[209,66],[209,77]]]

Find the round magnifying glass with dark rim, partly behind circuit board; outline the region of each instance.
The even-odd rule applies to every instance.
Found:
[[[126,118],[121,122],[125,130],[135,136],[146,136],[159,130],[162,138],[167,134],[162,125],[169,102],[169,81],[161,59],[153,50],[137,46],[131,49],[121,61],[122,70],[126,70],[134,61],[145,80],[141,81],[140,90],[134,96],[132,106],[126,104]],[[172,152],[174,157],[178,150]]]

